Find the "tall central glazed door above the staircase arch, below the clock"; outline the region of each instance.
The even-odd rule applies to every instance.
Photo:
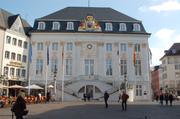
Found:
[[[94,75],[93,59],[85,59],[85,75]]]

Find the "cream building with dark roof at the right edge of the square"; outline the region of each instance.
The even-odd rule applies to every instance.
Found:
[[[180,95],[180,43],[174,43],[160,59],[164,91]]]

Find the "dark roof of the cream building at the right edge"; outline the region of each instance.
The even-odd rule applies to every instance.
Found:
[[[174,43],[169,48],[169,50],[165,50],[164,52],[165,52],[165,54],[164,54],[164,56],[162,58],[164,58],[165,56],[177,56],[177,55],[180,55],[180,43]]]

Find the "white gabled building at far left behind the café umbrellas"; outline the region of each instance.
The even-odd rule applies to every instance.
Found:
[[[0,9],[0,75],[4,85],[27,81],[29,29],[19,14]]]

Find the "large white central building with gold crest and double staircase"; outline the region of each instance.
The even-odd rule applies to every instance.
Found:
[[[105,91],[117,100],[126,83],[130,101],[150,100],[149,37],[141,21],[114,9],[64,8],[34,22],[30,82],[57,83],[58,98],[64,86],[64,100]]]

